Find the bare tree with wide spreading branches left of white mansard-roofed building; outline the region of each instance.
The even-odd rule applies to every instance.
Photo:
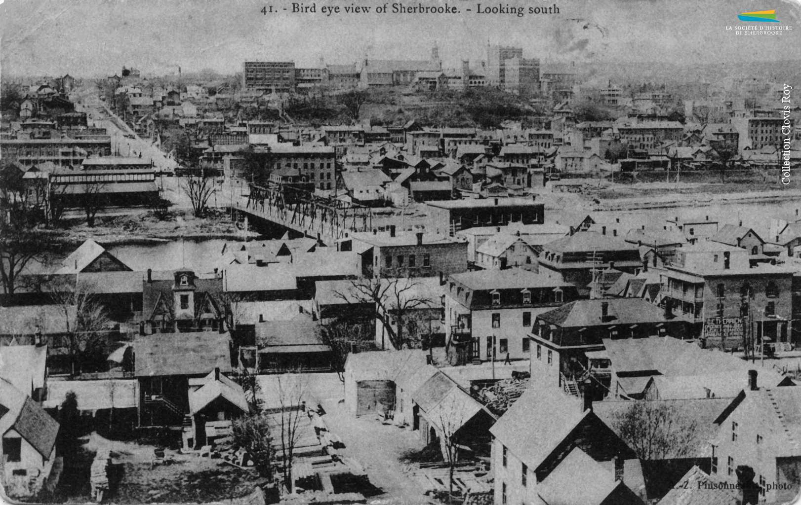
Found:
[[[424,290],[421,288],[423,285],[413,278],[361,278],[352,280],[348,291],[334,291],[334,295],[347,303],[374,304],[381,331],[386,331],[392,347],[403,349],[409,347],[409,335],[405,334],[405,329],[410,315],[434,307],[433,299],[422,295]]]

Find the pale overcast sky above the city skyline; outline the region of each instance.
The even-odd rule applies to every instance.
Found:
[[[461,14],[320,14],[321,6],[383,6],[383,0],[324,0],[317,14],[288,14],[288,0],[6,0],[0,5],[0,72],[77,76],[145,75],[211,68],[244,60],[294,60],[299,66],[370,58],[429,58],[436,43],[445,66],[486,58],[489,40],[522,46],[527,58],[562,61],[738,62],[801,58],[801,0],[504,0],[553,6],[560,14],[476,14],[478,0],[424,0]],[[417,5],[405,0],[407,6]],[[311,5],[312,2],[304,2]],[[497,6],[497,0],[480,2]],[[272,5],[280,14],[263,15]],[[392,6],[392,2],[388,4]],[[473,9],[472,13],[465,12]],[[737,14],[775,9],[782,35],[737,36]],[[576,21],[578,19],[578,21]]]

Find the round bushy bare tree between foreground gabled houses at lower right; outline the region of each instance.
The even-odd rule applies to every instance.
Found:
[[[611,427],[641,459],[690,457],[702,443],[698,422],[671,401],[632,401]]]

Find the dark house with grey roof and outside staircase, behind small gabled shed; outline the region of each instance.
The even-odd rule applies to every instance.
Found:
[[[139,335],[134,340],[140,426],[181,426],[190,380],[231,372],[231,336],[216,331]]]

